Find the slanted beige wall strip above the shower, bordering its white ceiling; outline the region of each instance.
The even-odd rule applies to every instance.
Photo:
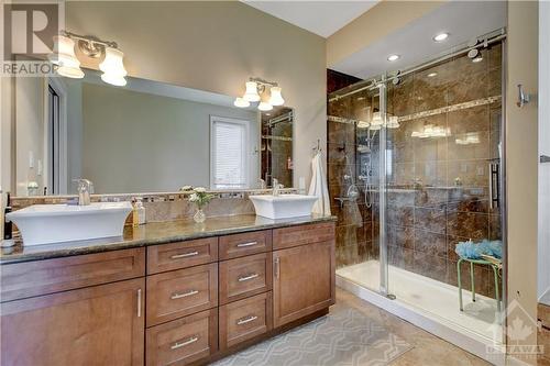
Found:
[[[446,1],[384,0],[327,40],[327,67],[384,38]]]

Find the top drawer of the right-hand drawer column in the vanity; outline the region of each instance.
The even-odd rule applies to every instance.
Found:
[[[230,259],[245,255],[270,252],[272,231],[255,231],[220,237],[220,259]]]

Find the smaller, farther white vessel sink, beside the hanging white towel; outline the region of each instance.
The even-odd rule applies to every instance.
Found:
[[[318,200],[315,196],[305,195],[261,195],[249,196],[256,214],[268,219],[299,218],[311,214],[311,209]]]

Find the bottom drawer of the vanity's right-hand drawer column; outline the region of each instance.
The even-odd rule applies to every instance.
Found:
[[[220,307],[220,350],[271,331],[273,328],[272,292]]]

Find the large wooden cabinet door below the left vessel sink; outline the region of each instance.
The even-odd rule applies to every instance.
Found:
[[[2,365],[143,365],[143,278],[1,304]]]

